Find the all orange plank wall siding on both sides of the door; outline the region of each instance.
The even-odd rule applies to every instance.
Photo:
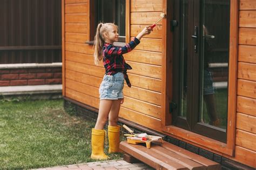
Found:
[[[63,11],[63,94],[86,105],[98,108],[98,88],[104,76],[103,64],[93,63],[93,49],[89,40],[89,0],[62,0]],[[166,4],[164,1],[130,0],[130,37],[156,21]],[[240,0],[239,58],[237,90],[237,133],[235,157],[228,157],[255,167],[256,141],[256,3]],[[126,22],[127,23],[127,22]],[[165,50],[161,22],[141,43],[124,57],[132,87],[124,87],[125,102],[120,108],[121,118],[153,130],[161,131],[162,58]],[[248,156],[249,155],[249,156]]]

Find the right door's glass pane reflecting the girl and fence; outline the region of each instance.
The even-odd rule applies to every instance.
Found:
[[[230,1],[204,0],[202,12],[200,121],[226,129]]]

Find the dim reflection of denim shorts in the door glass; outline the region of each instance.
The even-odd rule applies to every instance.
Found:
[[[214,94],[212,72],[204,70],[204,95]]]

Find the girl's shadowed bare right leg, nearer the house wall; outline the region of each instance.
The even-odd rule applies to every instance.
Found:
[[[113,104],[109,113],[109,126],[117,126],[121,100],[122,99],[113,100]]]

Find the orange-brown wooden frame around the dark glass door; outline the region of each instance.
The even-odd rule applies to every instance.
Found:
[[[237,67],[238,67],[238,14],[239,1],[230,1],[230,55],[228,67],[228,112],[227,112],[227,142],[220,142],[203,135],[184,130],[172,125],[172,113],[169,112],[169,103],[172,101],[172,69],[173,69],[173,33],[171,21],[173,18],[174,0],[162,0],[163,12],[166,19],[163,20],[163,59],[162,59],[162,107],[161,130],[170,134],[171,137],[183,140],[192,145],[211,149],[218,154],[234,156],[235,147],[235,116],[237,108]]]

